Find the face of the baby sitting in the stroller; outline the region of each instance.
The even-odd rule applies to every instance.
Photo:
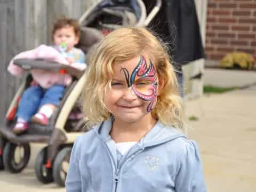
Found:
[[[67,51],[69,51],[78,43],[79,38],[76,36],[73,27],[65,26],[55,31],[53,41],[56,46],[67,44]]]

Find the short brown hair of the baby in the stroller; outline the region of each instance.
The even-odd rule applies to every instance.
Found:
[[[57,21],[55,21],[53,24],[52,39],[53,39],[55,32],[58,29],[61,29],[66,26],[73,27],[75,35],[78,38],[80,37],[81,31],[80,31],[80,26],[79,26],[78,21],[76,19],[66,18],[65,16],[62,16]]]

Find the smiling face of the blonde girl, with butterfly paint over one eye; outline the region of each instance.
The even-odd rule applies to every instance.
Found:
[[[155,67],[145,55],[115,63],[111,88],[105,105],[115,118],[125,122],[138,121],[151,115],[157,102],[158,78]]]

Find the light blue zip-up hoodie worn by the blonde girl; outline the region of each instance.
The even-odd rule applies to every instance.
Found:
[[[205,192],[199,151],[173,127],[157,122],[118,162],[111,120],[79,137],[72,149],[67,192]]]

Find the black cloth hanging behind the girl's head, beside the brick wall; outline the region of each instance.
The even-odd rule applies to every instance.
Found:
[[[145,0],[147,11],[155,1]],[[162,6],[149,28],[168,43],[170,55],[179,68],[190,61],[204,58],[194,0],[162,0]]]

